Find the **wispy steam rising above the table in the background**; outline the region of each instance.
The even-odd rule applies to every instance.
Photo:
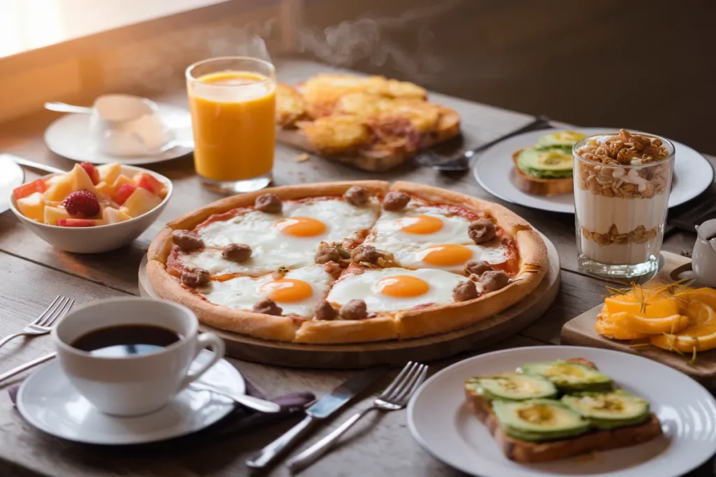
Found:
[[[342,21],[319,29],[301,28],[296,31],[296,49],[313,54],[322,62],[338,67],[354,67],[369,62],[374,67],[392,67],[412,81],[430,82],[445,70],[445,64],[432,53],[434,36],[428,26],[442,12],[452,9],[458,0],[445,1],[437,6],[407,11],[400,16],[359,18]],[[417,28],[416,24],[422,24]],[[253,56],[271,60],[269,46],[278,21],[251,22],[241,27],[223,25],[211,30],[177,31],[164,35],[156,44],[133,46],[132,54],[120,54],[102,65],[105,78],[112,87],[117,84],[139,84],[149,89],[165,90],[183,84],[183,68],[188,64],[215,56]],[[412,33],[415,31],[415,33]],[[391,36],[413,36],[415,47],[408,51],[392,41]],[[130,40],[130,39],[128,39]],[[127,41],[130,43],[130,41]],[[169,61],[168,61],[169,59]]]

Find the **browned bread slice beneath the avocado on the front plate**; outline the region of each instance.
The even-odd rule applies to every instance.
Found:
[[[568,361],[596,369],[594,363],[583,358],[574,358]],[[490,430],[505,456],[516,462],[557,461],[595,451],[609,451],[609,449],[636,446],[662,435],[662,425],[659,422],[659,418],[652,413],[647,421],[637,424],[637,426],[614,428],[608,431],[589,431],[581,436],[557,441],[522,441],[505,433],[488,400],[483,399],[482,396],[467,388],[465,389],[465,397],[480,422]]]

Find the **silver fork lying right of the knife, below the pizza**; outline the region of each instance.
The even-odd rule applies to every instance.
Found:
[[[407,363],[402,368],[400,374],[393,380],[390,385],[385,388],[383,393],[373,401],[373,405],[354,415],[348,421],[344,422],[335,431],[328,436],[316,442],[313,446],[301,452],[298,456],[291,458],[286,465],[289,466],[291,473],[299,472],[317,461],[321,456],[328,452],[334,443],[343,436],[360,418],[377,409],[383,411],[400,410],[405,408],[410,396],[422,384],[427,375],[427,366],[420,363]]]

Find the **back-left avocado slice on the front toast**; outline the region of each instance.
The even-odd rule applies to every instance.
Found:
[[[536,398],[554,398],[557,388],[542,376],[504,374],[472,378],[468,380],[468,388],[487,400],[526,400]]]

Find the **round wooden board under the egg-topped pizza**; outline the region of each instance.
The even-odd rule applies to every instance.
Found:
[[[559,256],[546,237],[549,267],[534,292],[520,303],[468,328],[413,340],[346,345],[304,345],[251,338],[202,325],[202,330],[221,336],[231,358],[290,368],[354,369],[379,365],[404,365],[448,358],[467,350],[493,345],[526,328],[549,308],[559,290]],[[139,290],[143,297],[158,299],[146,273],[145,255],[139,269]]]

